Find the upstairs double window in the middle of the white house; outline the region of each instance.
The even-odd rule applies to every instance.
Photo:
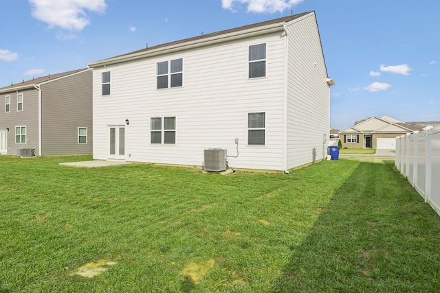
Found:
[[[183,59],[175,59],[157,63],[157,89],[183,85]],[[170,84],[170,86],[168,86]]]

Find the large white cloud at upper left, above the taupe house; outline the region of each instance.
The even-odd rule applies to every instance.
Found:
[[[104,12],[105,0],[29,0],[32,16],[52,27],[83,30],[90,21],[84,10]]]

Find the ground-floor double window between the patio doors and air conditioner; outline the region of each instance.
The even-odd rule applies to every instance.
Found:
[[[162,123],[163,121],[163,123]],[[151,118],[151,143],[176,143],[176,117]]]

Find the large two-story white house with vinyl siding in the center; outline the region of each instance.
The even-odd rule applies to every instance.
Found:
[[[327,154],[330,86],[314,12],[89,64],[94,159],[287,171]]]

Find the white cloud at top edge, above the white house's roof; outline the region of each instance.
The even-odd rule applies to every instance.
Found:
[[[248,5],[249,12],[273,13],[283,12],[303,0],[221,0],[221,7],[235,11],[237,5]]]

